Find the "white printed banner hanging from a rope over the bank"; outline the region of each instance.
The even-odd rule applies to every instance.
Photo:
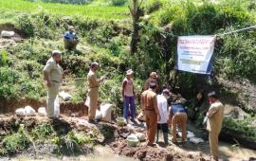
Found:
[[[177,69],[192,73],[210,74],[214,36],[179,36]]]

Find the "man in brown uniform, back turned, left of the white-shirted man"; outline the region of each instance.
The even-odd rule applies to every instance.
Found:
[[[161,119],[157,107],[156,89],[157,85],[150,83],[150,88],[141,94],[141,107],[147,125],[148,146],[154,146],[157,120]]]

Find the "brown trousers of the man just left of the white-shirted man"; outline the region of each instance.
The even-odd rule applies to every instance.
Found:
[[[155,111],[145,111],[145,120],[147,125],[147,136],[149,143],[155,142],[155,132],[157,129],[157,114]]]

